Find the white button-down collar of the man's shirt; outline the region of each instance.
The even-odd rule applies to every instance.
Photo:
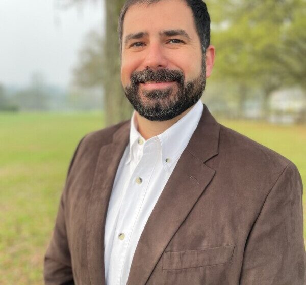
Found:
[[[138,124],[134,110],[130,128],[130,152],[129,158],[125,164],[128,164],[131,161],[133,149],[135,147],[144,148],[147,144],[151,144],[152,141],[158,140],[161,146],[161,159],[163,166],[168,170],[176,158],[179,157],[186,148],[198,125],[202,111],[203,104],[201,100],[199,100],[184,117],[173,124],[170,128],[157,136],[145,140],[138,132]]]

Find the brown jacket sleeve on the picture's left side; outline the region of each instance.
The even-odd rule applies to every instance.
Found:
[[[60,205],[56,217],[56,223],[52,239],[47,248],[44,258],[44,281],[46,285],[73,285],[73,274],[71,266],[71,258],[69,244],[66,234],[65,223],[65,192],[69,180],[70,170],[73,166],[74,159],[77,156],[79,147],[83,138],[75,150],[70,161],[66,183],[61,195]]]

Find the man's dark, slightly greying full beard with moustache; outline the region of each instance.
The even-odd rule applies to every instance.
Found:
[[[144,82],[171,82],[171,87],[140,90],[139,84]],[[124,86],[126,98],[140,116],[150,121],[166,121],[181,115],[200,100],[206,85],[205,55],[202,59],[200,75],[185,83],[181,70],[147,68],[133,72],[131,84]]]

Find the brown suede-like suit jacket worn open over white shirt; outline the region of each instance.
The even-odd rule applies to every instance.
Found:
[[[105,284],[104,228],[130,121],[81,140],[68,170],[46,284]],[[128,285],[304,285],[295,165],[207,107],[138,242]],[[112,284],[110,284],[112,285]]]

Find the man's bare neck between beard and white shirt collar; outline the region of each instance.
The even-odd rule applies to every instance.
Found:
[[[141,134],[141,136],[145,140],[148,140],[151,137],[157,136],[163,133],[168,128],[170,128],[181,118],[183,118],[193,107],[194,105],[188,108],[183,113],[181,113],[181,115],[176,116],[173,119],[166,120],[166,121],[150,121],[140,116],[138,112],[135,112],[135,117],[136,117],[137,124],[138,124],[138,132]]]

